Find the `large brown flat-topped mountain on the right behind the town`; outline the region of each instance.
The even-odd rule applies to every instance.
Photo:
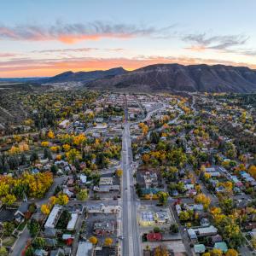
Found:
[[[157,91],[256,91],[256,71],[248,67],[155,64],[85,84],[89,89]]]

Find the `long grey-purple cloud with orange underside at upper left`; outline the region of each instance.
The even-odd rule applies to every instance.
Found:
[[[158,38],[166,36],[173,26],[156,28],[154,26],[136,26],[103,21],[86,24],[64,24],[58,21],[52,26],[0,26],[0,40],[57,40],[62,43],[73,44],[81,40],[98,40],[101,38]]]

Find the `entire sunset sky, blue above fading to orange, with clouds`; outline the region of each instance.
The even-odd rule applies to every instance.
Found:
[[[156,63],[256,68],[255,0],[2,0],[0,78]]]

